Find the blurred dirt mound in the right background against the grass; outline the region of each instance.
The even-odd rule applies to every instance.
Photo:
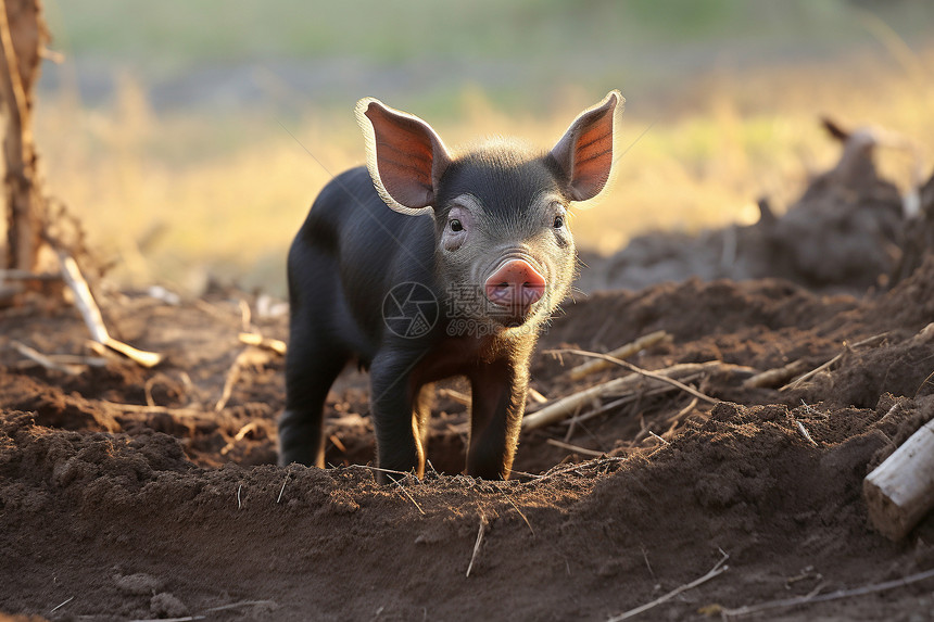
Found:
[[[916,232],[930,226],[907,215],[897,188],[879,176],[873,158],[884,135],[826,126],[841,142],[840,162],[786,213],[775,216],[762,199],[755,225],[636,237],[610,257],[590,257],[579,287],[639,290],[690,277],[772,277],[816,291],[861,293],[907,276],[923,244]],[[934,188],[934,177],[927,187]],[[922,189],[919,196],[921,213],[934,214],[934,193]]]

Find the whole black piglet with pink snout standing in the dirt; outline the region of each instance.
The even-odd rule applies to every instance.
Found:
[[[471,389],[466,472],[509,477],[539,331],[576,270],[568,214],[607,186],[623,99],[610,91],[555,147],[450,151],[420,118],[357,102],[367,165],[330,181],[289,251],[290,344],[279,461],[324,466],[340,371],[370,373],[378,479],[424,474],[430,383]]]

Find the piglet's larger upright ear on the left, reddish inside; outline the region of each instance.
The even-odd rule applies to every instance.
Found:
[[[451,156],[431,126],[373,98],[356,103],[356,118],[366,137],[369,175],[386,204],[403,214],[434,205]]]

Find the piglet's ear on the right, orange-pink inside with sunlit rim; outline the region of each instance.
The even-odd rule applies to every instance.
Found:
[[[593,199],[607,186],[619,150],[616,132],[626,100],[609,91],[602,102],[583,111],[551,155],[568,179],[573,201]]]

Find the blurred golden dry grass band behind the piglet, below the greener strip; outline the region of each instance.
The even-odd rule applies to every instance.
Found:
[[[822,113],[934,144],[932,77],[934,50],[906,55],[893,45],[835,65],[715,72],[651,101],[620,84],[629,98],[622,140],[634,144],[611,194],[577,214],[577,239],[607,253],[647,229],[749,221],[762,194],[787,204],[806,175],[836,155],[818,128]],[[554,116],[516,119],[470,90],[465,114],[434,125],[452,144],[512,134],[547,147],[604,94],[565,92]],[[236,278],[281,294],[285,254],[308,205],[331,174],[363,161],[352,105],[301,119],[267,111],[155,115],[143,89],[125,79],[108,111],[47,98],[37,130],[52,192],[115,262],[114,276],[187,290],[209,276]],[[905,155],[884,153],[882,165],[907,183]]]

